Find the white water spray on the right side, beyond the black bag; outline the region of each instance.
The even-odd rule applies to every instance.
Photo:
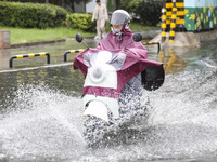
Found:
[[[216,70],[196,68],[167,76],[151,95],[145,152],[163,159],[200,158],[217,152]],[[151,151],[151,150],[150,150]],[[151,152],[149,152],[151,153]],[[152,157],[152,158],[153,158]]]

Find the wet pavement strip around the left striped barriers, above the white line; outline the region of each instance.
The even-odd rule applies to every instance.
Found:
[[[85,41],[91,48],[97,46],[98,43],[90,39],[86,39]],[[75,40],[67,40],[64,43],[0,50],[0,70],[9,69],[9,59],[12,55],[24,55],[24,54],[48,52],[51,55],[51,64],[61,64],[64,60],[65,51],[77,50],[77,49],[86,49],[86,46],[82,43],[78,43]],[[74,57],[75,54],[68,54],[68,62],[72,62]],[[13,59],[13,68],[37,67],[44,65],[47,65],[46,56]]]

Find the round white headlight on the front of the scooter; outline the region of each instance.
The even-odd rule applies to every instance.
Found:
[[[90,69],[90,79],[93,82],[101,82],[104,79],[104,70],[100,66]]]

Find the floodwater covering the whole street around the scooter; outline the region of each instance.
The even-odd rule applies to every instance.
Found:
[[[73,69],[75,54],[67,63],[62,54],[85,45],[11,50],[11,55],[53,55],[51,65],[46,65],[46,57],[14,59],[13,69],[1,64],[0,161],[215,161],[216,43],[165,49],[159,54],[155,45],[148,46],[149,59],[161,60],[166,70],[164,85],[149,93],[149,118],[94,149],[86,148],[81,135],[84,76]]]

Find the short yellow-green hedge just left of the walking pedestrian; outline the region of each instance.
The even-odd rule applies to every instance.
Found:
[[[84,31],[95,31],[95,23],[91,23],[91,14],[68,13],[66,16],[67,26]]]

